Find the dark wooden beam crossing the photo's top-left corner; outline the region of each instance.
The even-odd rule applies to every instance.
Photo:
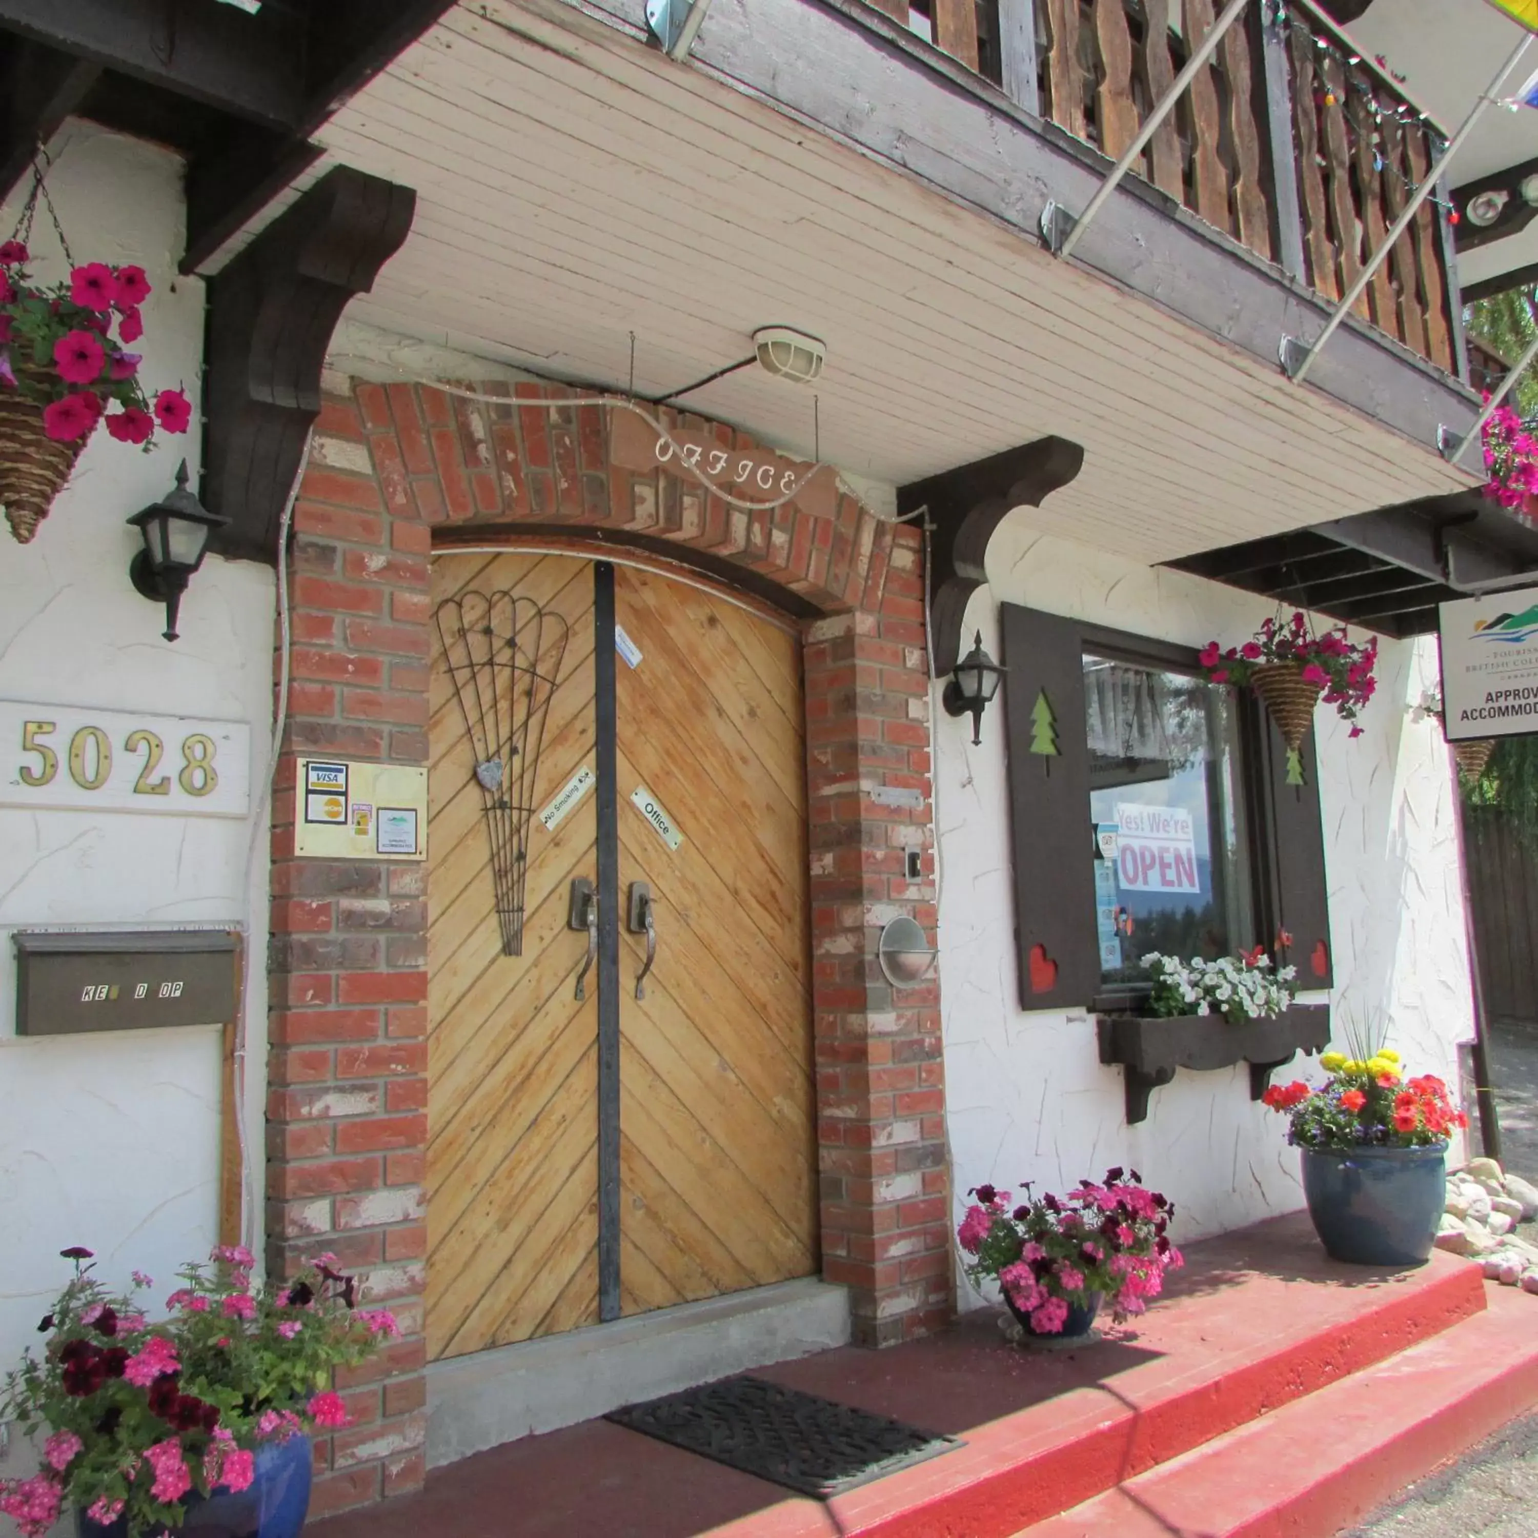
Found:
[[[0,0],[0,28],[272,128],[300,125],[306,15],[206,0]]]

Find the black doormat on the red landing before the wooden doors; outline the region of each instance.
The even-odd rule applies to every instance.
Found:
[[[628,1404],[604,1420],[823,1501],[961,1446],[958,1436],[746,1377]]]

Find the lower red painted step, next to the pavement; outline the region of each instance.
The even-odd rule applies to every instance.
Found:
[[[1533,1407],[1538,1300],[1492,1286],[1486,1312],[1018,1538],[1330,1538]]]

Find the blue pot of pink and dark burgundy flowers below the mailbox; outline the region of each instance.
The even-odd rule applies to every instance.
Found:
[[[43,1467],[0,1481],[0,1512],[42,1538],[65,1506],[82,1538],[160,1538],[195,1526],[229,1538],[295,1538],[309,1509],[315,1427],[348,1424],[328,1384],[395,1333],[386,1310],[354,1309],[355,1284],[321,1257],[291,1281],[252,1287],[251,1252],[218,1246],[188,1266],[151,1321],[134,1272],[109,1293],[88,1264],[75,1273],[6,1380],[0,1416],[48,1429]]]

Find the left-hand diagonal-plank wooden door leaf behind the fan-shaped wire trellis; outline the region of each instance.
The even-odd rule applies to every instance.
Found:
[[[535,800],[594,761],[592,566],[444,555],[434,600],[509,591],[566,618]],[[438,646],[434,637],[435,647]],[[546,637],[546,666],[552,647]],[[598,1317],[597,1004],[574,998],[586,940],[574,875],[597,871],[594,797],[528,843],[523,955],[501,950],[474,754],[435,649],[429,721],[428,1349],[454,1357]]]

